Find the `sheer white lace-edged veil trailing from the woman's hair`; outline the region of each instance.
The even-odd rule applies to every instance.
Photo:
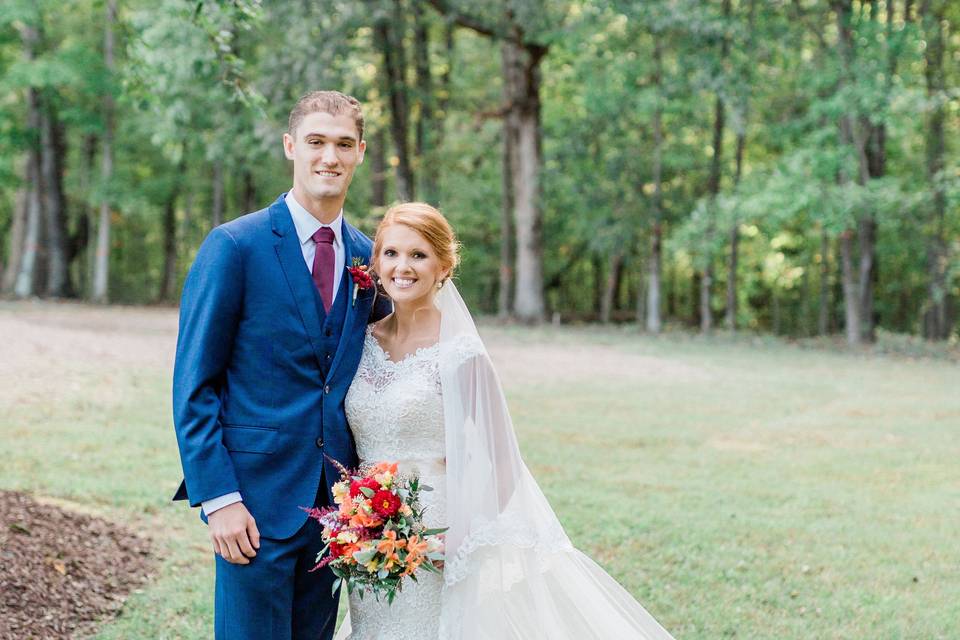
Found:
[[[517,446],[500,381],[452,281],[441,311],[447,457],[441,640],[669,640],[570,543]]]

